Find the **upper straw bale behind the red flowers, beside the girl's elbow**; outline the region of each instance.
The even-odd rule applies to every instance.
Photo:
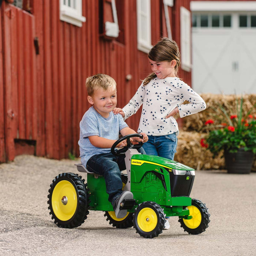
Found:
[[[184,131],[202,131],[204,123],[213,119],[217,123],[226,123],[225,118],[222,117],[222,111],[219,104],[227,111],[229,115],[237,114],[236,98],[241,95],[223,95],[205,93],[201,95],[206,102],[206,110],[182,118]],[[243,97],[243,114],[246,114],[256,104],[256,94],[246,94]],[[239,105],[239,104],[238,104]],[[256,114],[256,108],[252,109],[252,115]],[[220,120],[218,120],[220,118]]]

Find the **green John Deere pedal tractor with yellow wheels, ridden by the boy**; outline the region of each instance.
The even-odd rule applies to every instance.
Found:
[[[133,200],[121,203],[120,209],[127,209],[127,215],[116,218],[108,201],[104,177],[76,164],[79,172],[87,173],[87,184],[78,174],[62,173],[50,185],[48,208],[57,226],[80,226],[90,209],[105,211],[109,224],[121,229],[133,226],[145,238],[162,233],[165,216],[178,216],[181,227],[189,234],[206,230],[210,222],[208,208],[200,200],[189,197],[195,170],[166,158],[140,154],[137,149],[142,143],[130,143],[130,138],[136,136],[142,138],[140,134],[127,135],[111,148],[113,154],[125,154],[127,174],[121,173],[123,190],[131,191]],[[117,144],[125,139],[127,146],[115,151]]]

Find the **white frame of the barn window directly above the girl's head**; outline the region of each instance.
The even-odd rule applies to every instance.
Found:
[[[146,33],[147,33],[147,39],[144,40],[142,38],[141,30],[145,29],[145,27],[142,26],[142,20],[141,20],[141,0],[137,0],[137,37],[138,37],[138,50],[141,50],[142,52],[148,53],[150,49],[153,47],[151,44],[151,7],[150,7],[150,0],[145,1],[147,3],[147,27],[146,27]]]

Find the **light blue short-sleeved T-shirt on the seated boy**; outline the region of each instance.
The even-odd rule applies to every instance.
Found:
[[[93,107],[89,108],[80,121],[80,157],[83,166],[93,156],[102,153],[110,153],[110,148],[94,147],[89,136],[99,136],[110,140],[117,140],[119,131],[128,125],[120,114],[109,113],[109,117],[101,116]]]

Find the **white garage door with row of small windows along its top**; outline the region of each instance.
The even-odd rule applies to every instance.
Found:
[[[192,87],[256,93],[256,12],[193,12]]]

